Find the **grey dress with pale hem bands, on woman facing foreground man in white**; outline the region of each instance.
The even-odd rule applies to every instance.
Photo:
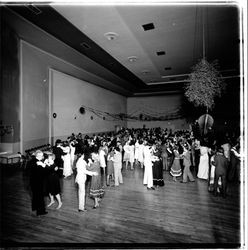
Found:
[[[104,196],[104,190],[101,184],[101,169],[100,162],[95,161],[87,166],[89,171],[97,172],[97,176],[92,176],[90,184],[90,198],[102,198]]]

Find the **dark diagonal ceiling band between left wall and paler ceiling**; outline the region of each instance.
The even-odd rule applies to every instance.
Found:
[[[30,6],[34,8],[34,11],[32,11]],[[74,48],[78,52],[110,70],[118,77],[125,79],[130,83],[130,86],[126,87],[131,88],[132,91],[135,92],[140,87],[145,86],[145,83],[141,79],[136,77],[132,72],[115,60],[94,41],[92,41],[89,37],[73,26],[51,6],[14,4],[8,5],[8,8],[27,19],[34,25],[43,29],[47,33],[61,40],[65,44]],[[37,10],[37,13],[35,13],[35,10]],[[86,44],[86,46],[83,46],[83,43]]]

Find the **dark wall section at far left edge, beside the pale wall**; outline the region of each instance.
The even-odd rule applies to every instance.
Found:
[[[1,21],[1,102],[0,123],[11,126],[13,133],[1,136],[1,142],[20,141],[20,58],[19,38]]]

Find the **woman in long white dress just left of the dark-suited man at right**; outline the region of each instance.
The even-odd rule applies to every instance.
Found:
[[[200,163],[197,177],[208,180],[209,177],[209,148],[207,146],[200,146]]]

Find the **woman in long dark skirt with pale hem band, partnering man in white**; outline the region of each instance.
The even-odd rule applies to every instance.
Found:
[[[153,185],[164,186],[163,178],[163,163],[161,158],[162,151],[154,144],[152,150],[152,172],[153,172]]]

